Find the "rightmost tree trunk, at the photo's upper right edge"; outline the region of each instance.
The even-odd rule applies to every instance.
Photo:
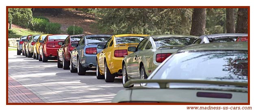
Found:
[[[237,12],[236,33],[248,33],[248,9],[239,8]]]

